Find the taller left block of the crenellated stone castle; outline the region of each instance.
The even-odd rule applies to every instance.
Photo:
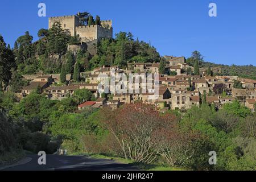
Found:
[[[71,35],[75,36],[75,27],[79,26],[79,18],[76,15],[51,17],[49,18],[49,28],[55,22],[60,22],[63,29],[69,30]]]

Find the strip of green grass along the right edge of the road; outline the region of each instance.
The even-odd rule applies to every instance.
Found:
[[[94,159],[109,159],[109,160],[115,160],[116,162],[123,163],[123,164],[133,164],[134,166],[137,166],[139,169],[143,171],[187,171],[186,169],[182,168],[176,168],[176,167],[170,167],[170,166],[163,166],[160,164],[143,164],[134,162],[130,159],[115,157],[115,156],[109,156],[105,154],[84,154],[84,153],[73,153],[70,155],[84,155],[84,156],[90,156],[90,158]]]

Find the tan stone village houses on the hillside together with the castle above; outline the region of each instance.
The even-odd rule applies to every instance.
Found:
[[[71,32],[72,36],[81,38],[80,45],[68,47],[74,54],[83,47],[88,49],[90,47],[88,45],[92,42],[97,43],[101,38],[112,38],[113,36],[112,20],[101,21],[100,26],[80,26],[79,18],[76,15],[60,16],[49,18],[49,28],[55,22],[60,22],[64,29]],[[89,49],[93,52],[92,48]],[[126,69],[118,66],[94,68],[93,71],[80,73],[80,77],[84,77],[84,82],[73,82],[72,75],[69,74],[67,75],[67,85],[61,85],[60,74],[43,75],[43,73],[38,73],[36,75],[23,75],[26,80],[30,81],[30,84],[22,88],[19,96],[26,97],[37,89],[40,90],[40,93],[46,94],[51,100],[61,100],[72,97],[77,89],[88,89],[95,99],[94,101],[82,102],[77,107],[78,113],[85,107],[110,106],[114,109],[122,104],[136,102],[154,104],[160,112],[166,112],[167,110],[184,111],[192,106],[199,106],[202,102],[213,104],[216,109],[219,109],[222,105],[234,100],[240,101],[251,111],[254,111],[256,80],[238,76],[220,76],[221,67],[196,68],[199,71],[195,71],[194,67],[187,64],[185,57],[163,56],[162,60],[164,68],[160,68],[162,67],[161,63],[136,63],[135,61],[127,63]],[[161,74],[159,69],[164,69],[164,73]],[[126,75],[137,73],[146,77],[150,73],[156,74],[158,77],[158,86],[156,87],[159,89],[158,95],[152,100],[150,95],[154,94],[154,92],[149,90],[146,93],[117,93],[113,86],[109,87],[108,93],[111,94],[99,92],[98,85],[103,79],[101,74],[110,75],[110,72],[113,71]],[[135,88],[135,84],[129,84],[128,81],[124,82],[115,78],[115,82],[121,82],[121,86],[124,86],[124,88]],[[154,81],[152,82],[155,83]],[[115,86],[120,85],[117,84]],[[153,84],[152,87],[154,88],[154,86]],[[140,82],[139,88],[142,89],[142,87]]]

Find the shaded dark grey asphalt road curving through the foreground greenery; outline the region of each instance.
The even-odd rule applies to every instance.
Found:
[[[32,160],[26,164],[6,168],[3,171],[133,171],[132,164],[121,164],[114,160],[92,159],[88,156],[47,155],[46,165],[39,165],[38,155],[28,155]]]

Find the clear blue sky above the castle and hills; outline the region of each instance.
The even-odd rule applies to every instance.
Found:
[[[46,3],[47,17],[38,16],[38,4]],[[208,5],[217,4],[217,17]],[[0,34],[6,43],[29,31],[34,40],[48,17],[88,11],[112,19],[114,33],[130,31],[134,38],[151,41],[160,55],[191,56],[200,51],[205,60],[221,64],[256,65],[255,0],[1,0]]]

